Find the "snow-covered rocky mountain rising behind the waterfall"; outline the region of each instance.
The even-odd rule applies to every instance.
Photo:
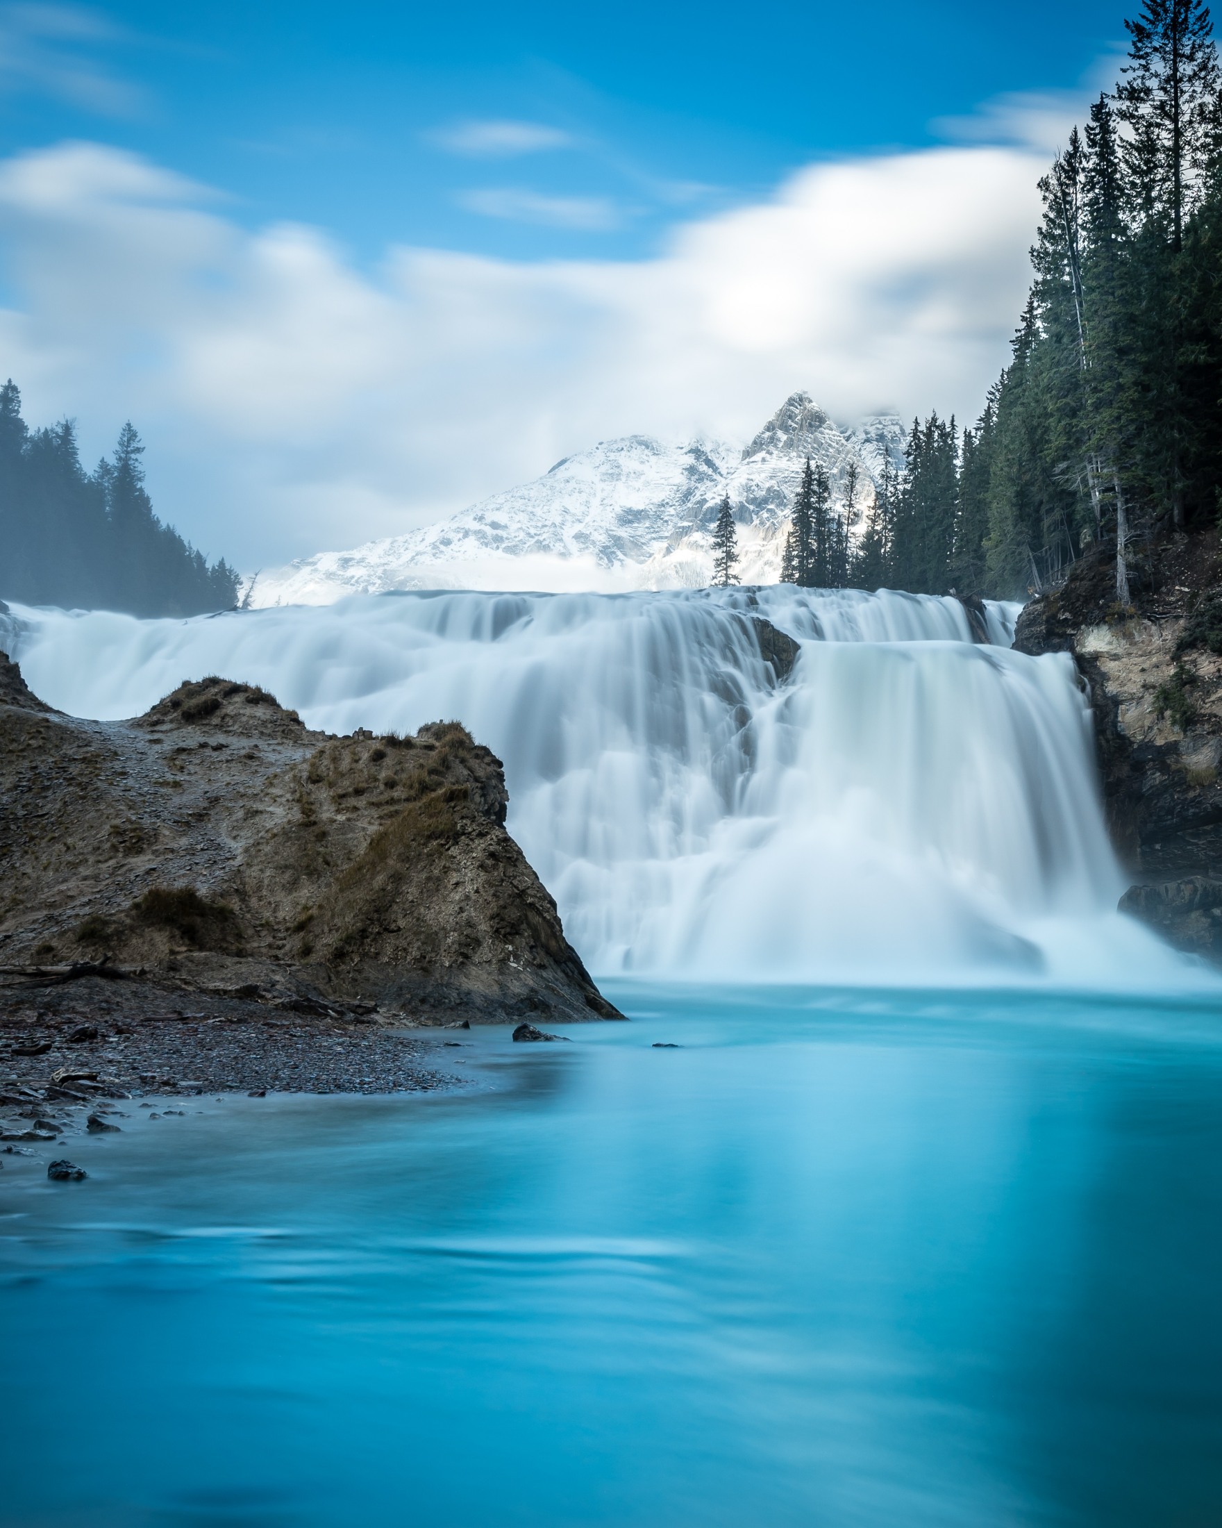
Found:
[[[330,604],[396,588],[703,585],[712,570],[709,533],[726,495],[742,581],[774,582],[807,457],[828,472],[837,504],[855,461],[855,504],[865,509],[883,460],[903,461],[903,445],[895,416],[845,431],[794,393],[745,449],[706,440],[674,446],[649,435],[603,440],[435,526],[263,573],[247,587],[247,602]]]

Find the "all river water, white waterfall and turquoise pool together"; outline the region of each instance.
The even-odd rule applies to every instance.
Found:
[[[131,1100],[81,1184],[0,1158],[0,1525],[1222,1522],[1219,983],[1115,911],[1086,697],[1013,619],[5,617],[78,715],[220,672],[464,721],[632,1022],[463,1034],[445,1096]]]

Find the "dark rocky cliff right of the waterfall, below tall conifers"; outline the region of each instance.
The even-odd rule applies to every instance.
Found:
[[[1089,686],[1121,902],[1172,943],[1222,958],[1222,559],[1214,532],[1156,545],[1115,604],[1114,549],[1033,601],[1014,646],[1068,651]],[[1210,888],[1216,886],[1216,891]]]

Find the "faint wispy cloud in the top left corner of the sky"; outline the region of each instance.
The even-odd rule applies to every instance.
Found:
[[[96,11],[73,5],[0,6],[0,90],[49,95],[104,116],[133,116],[144,92],[98,57],[122,32]]]

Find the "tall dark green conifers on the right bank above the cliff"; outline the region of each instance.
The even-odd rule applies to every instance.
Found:
[[[1127,605],[1150,538],[1222,510],[1222,79],[1202,0],[1146,0],[1039,188],[1034,281],[976,423],[913,420],[862,533],[807,465],[782,581],[1022,596],[1091,544]]]

